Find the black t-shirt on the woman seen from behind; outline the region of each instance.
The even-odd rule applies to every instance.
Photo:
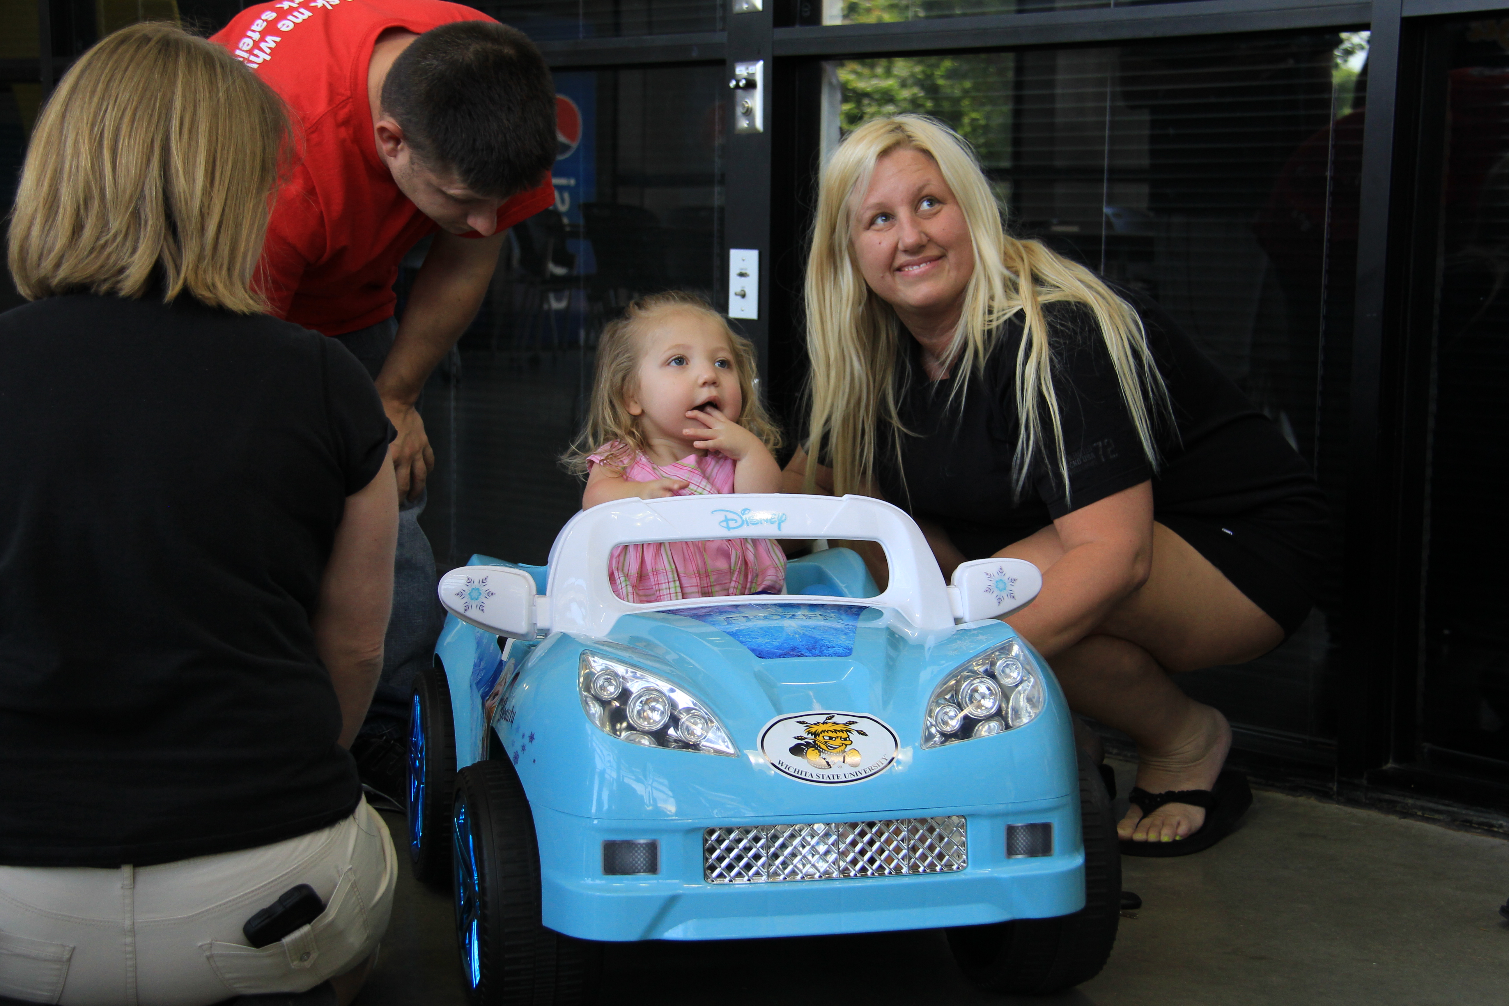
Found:
[[[352,813],[309,618],[389,431],[346,347],[270,317],[0,315],[0,864],[164,863]]]

